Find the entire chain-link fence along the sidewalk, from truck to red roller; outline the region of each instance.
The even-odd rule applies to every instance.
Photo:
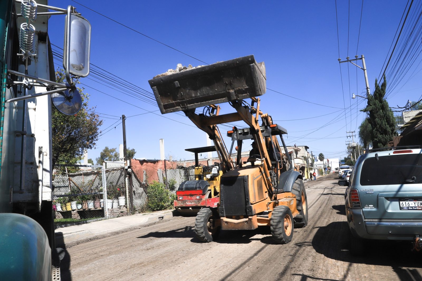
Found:
[[[195,179],[195,172],[174,163],[167,162],[165,167],[161,162],[136,165],[128,173],[124,164],[117,162],[104,166],[56,165],[53,170],[56,224],[171,208],[177,188],[183,181]],[[151,195],[149,200],[147,195]]]

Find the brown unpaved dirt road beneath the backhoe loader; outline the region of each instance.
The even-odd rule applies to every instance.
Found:
[[[375,242],[366,257],[349,254],[345,188],[335,176],[305,184],[309,224],[289,244],[273,243],[269,228],[200,243],[195,217],[174,217],[68,245],[62,280],[422,280],[422,256],[410,243]]]

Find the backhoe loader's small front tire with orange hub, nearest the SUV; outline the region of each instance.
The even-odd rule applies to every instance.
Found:
[[[287,244],[293,238],[292,211],[287,206],[277,206],[271,214],[271,235],[276,243]]]

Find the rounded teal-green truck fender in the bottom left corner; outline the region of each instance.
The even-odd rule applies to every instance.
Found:
[[[0,213],[2,280],[51,281],[51,249],[46,232],[29,216]]]

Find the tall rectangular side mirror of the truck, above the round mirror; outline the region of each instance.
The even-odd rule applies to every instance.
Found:
[[[65,21],[63,67],[66,71],[66,78],[70,79],[69,74],[77,77],[86,77],[89,74],[91,24],[81,15],[75,14],[72,6],[68,6],[68,14]]]

